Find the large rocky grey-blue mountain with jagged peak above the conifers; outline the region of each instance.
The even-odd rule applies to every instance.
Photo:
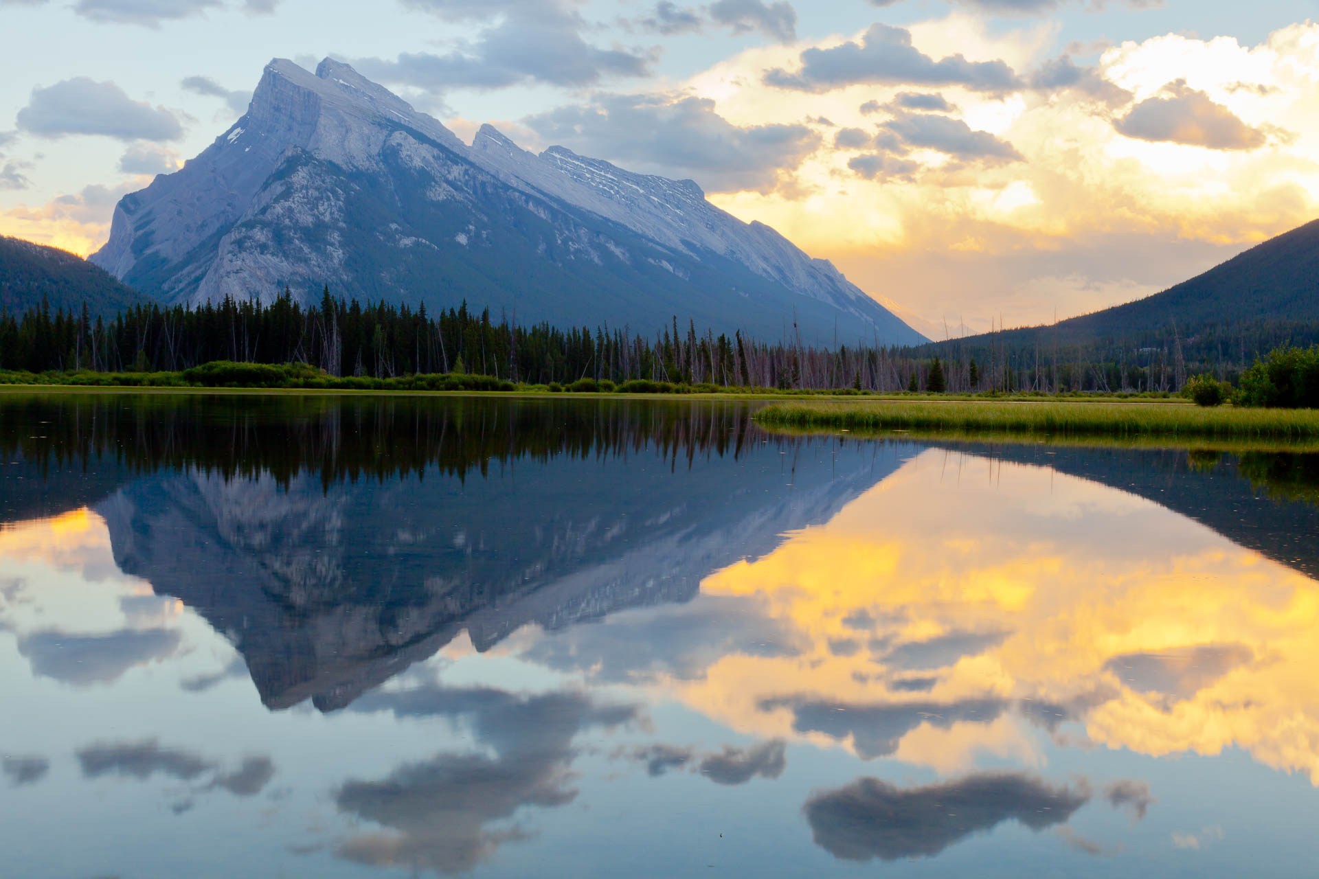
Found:
[[[774,229],[691,181],[633,174],[491,127],[471,146],[326,59],[272,61],[248,112],[115,210],[92,257],[165,302],[270,299],[285,285],[522,323],[682,323],[803,341],[923,337]]]

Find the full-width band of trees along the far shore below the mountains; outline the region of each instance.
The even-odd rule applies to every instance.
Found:
[[[108,381],[109,374],[183,373],[214,361],[294,364],[343,380],[322,386],[363,387],[456,374],[578,389],[650,382],[661,389],[1178,393],[1199,374],[1240,383],[1266,352],[1310,341],[1319,341],[1319,324],[1220,327],[1192,339],[1170,324],[1162,341],[1075,345],[1051,341],[1042,331],[1008,331],[918,348],[831,349],[802,344],[795,332],[777,343],[740,332],[716,336],[690,320],[683,328],[677,318],[653,335],[608,326],[565,329],[522,326],[504,314],[496,320],[466,304],[430,315],[423,306],[346,302],[328,290],[318,307],[285,291],[269,304],[228,298],[198,307],[144,304],[109,322],[91,318],[86,306],[69,312],[46,302],[24,315],[0,311],[0,370],[91,373]],[[446,382],[435,389],[472,383]]]

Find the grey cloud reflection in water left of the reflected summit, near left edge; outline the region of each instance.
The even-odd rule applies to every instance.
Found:
[[[91,687],[113,683],[135,666],[166,659],[178,644],[179,634],[170,629],[124,629],[107,635],[38,631],[18,638],[18,652],[34,675]]]

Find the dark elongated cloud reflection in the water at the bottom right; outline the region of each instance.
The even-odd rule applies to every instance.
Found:
[[[843,861],[933,857],[1004,821],[1031,830],[1064,824],[1089,800],[1086,789],[1053,787],[1021,774],[972,775],[959,781],[897,788],[859,779],[806,801],[815,843]]]

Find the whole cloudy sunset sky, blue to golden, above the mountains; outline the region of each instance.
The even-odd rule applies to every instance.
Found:
[[[0,233],[80,254],[276,57],[694,179],[940,339],[1319,213],[1319,0],[0,0]]]

